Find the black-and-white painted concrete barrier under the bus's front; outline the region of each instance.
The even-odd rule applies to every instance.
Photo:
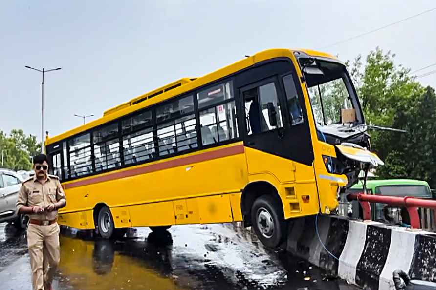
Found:
[[[395,290],[397,269],[436,282],[436,233],[319,215],[318,238],[315,221],[308,216],[289,222],[287,251],[363,289]]]

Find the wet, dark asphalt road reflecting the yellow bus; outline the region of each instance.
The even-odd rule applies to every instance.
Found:
[[[131,228],[108,241],[63,229],[53,290],[356,290],[283,250],[265,249],[238,224]],[[0,283],[31,290],[24,231],[0,224]]]

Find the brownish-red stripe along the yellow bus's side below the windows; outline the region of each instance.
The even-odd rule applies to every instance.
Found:
[[[161,163],[152,164],[149,166],[134,168],[130,170],[125,170],[121,172],[115,172],[104,176],[97,176],[87,180],[76,181],[64,185],[64,188],[72,188],[77,186],[85,186],[94,183],[99,183],[103,181],[114,180],[123,177],[135,176],[139,174],[144,174],[148,172],[158,171],[162,169],[172,168],[176,166],[183,166],[188,164],[193,164],[197,162],[217,159],[226,156],[232,156],[236,154],[244,153],[244,145],[237,145],[232,147],[221,148],[211,152],[204,152],[193,156],[182,157],[174,160],[169,160]]]

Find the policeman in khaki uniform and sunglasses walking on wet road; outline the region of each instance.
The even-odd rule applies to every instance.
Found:
[[[35,175],[22,183],[17,209],[29,215],[27,246],[33,290],[51,290],[60,260],[58,209],[65,207],[66,199],[59,178],[47,174],[46,155],[33,159],[33,169]]]

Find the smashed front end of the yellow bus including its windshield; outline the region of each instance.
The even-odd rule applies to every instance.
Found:
[[[295,52],[313,115],[315,172],[321,212],[338,205],[340,192],[358,181],[361,170],[383,165],[372,153],[356,90],[345,65],[330,57]]]

